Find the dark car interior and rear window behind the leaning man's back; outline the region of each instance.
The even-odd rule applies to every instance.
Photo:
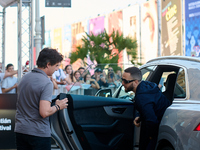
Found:
[[[148,80],[162,84],[161,91],[171,103],[174,98],[186,97],[185,73],[180,67],[160,65],[148,77]]]

